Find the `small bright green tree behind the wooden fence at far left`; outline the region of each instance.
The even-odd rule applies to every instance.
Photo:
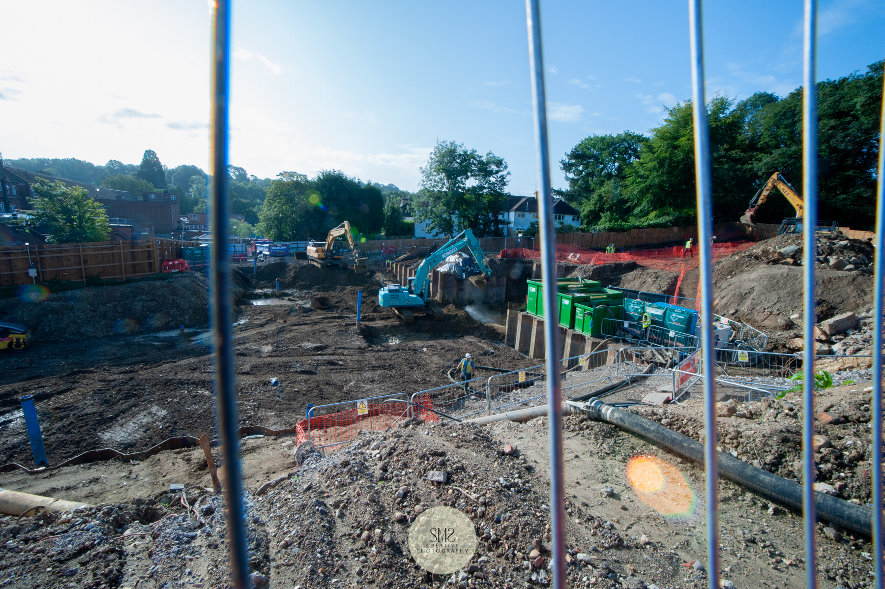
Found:
[[[68,188],[64,183],[42,178],[32,185],[30,199],[34,211],[28,211],[51,243],[106,241],[111,233],[108,216],[102,205],[89,198],[86,188]]]

